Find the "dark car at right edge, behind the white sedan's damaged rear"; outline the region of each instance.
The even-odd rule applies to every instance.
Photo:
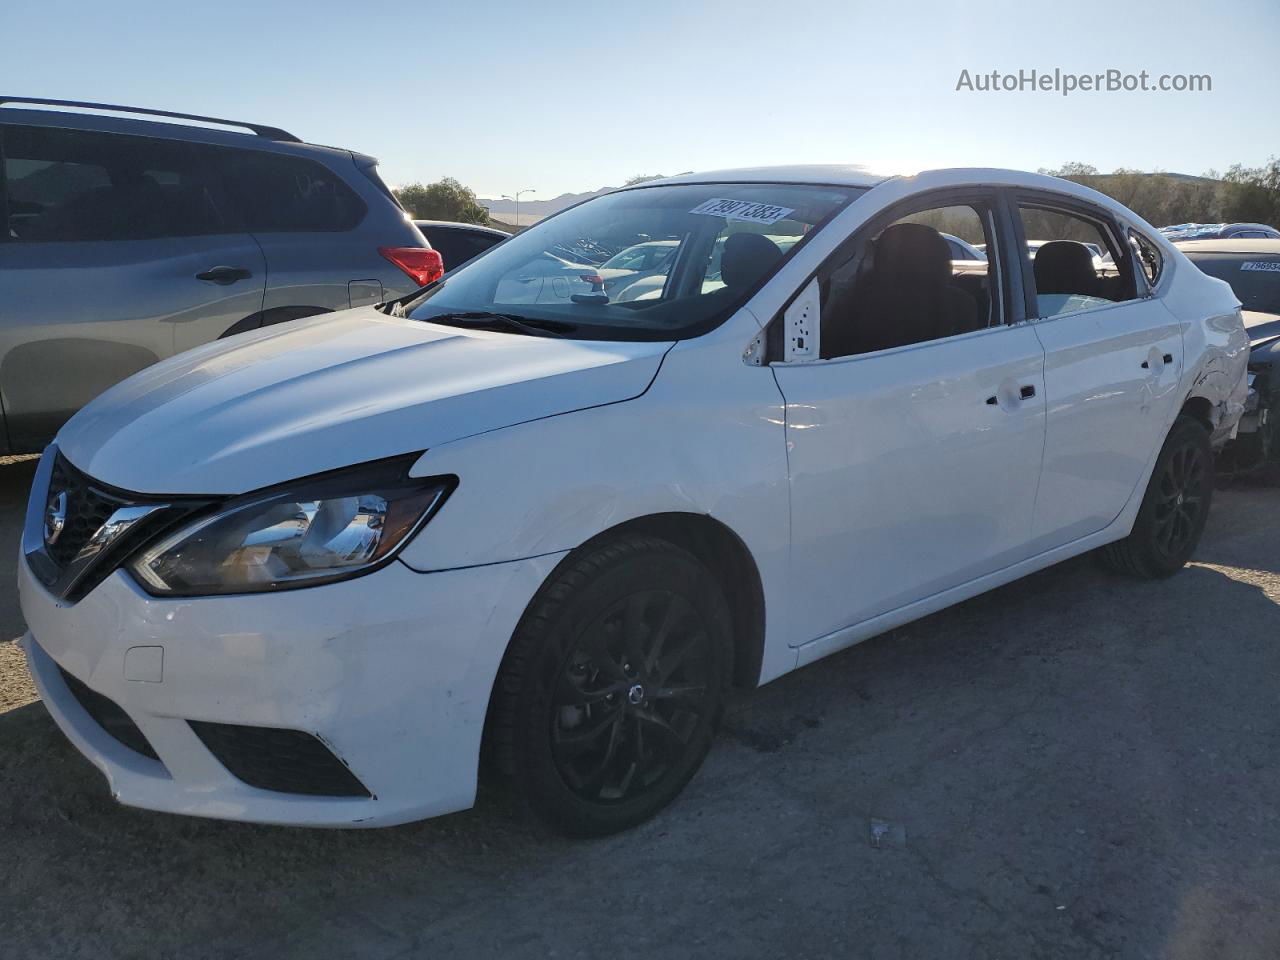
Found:
[[[1196,266],[1231,284],[1249,333],[1249,396],[1224,467],[1280,480],[1280,238],[1176,244]]]

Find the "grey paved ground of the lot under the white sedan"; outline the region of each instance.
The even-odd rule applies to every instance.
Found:
[[[0,466],[0,640],[32,465]],[[1280,490],[737,698],[664,815],[374,832],[116,806],[0,641],[0,956],[1280,956]],[[878,840],[878,842],[876,842]]]

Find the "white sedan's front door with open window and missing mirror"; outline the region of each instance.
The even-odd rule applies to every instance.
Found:
[[[1007,323],[1020,316],[1004,306],[1000,262],[952,268],[942,236],[995,257],[1005,232],[980,197],[896,212],[819,271],[822,358],[772,367],[786,401],[795,643],[1029,556],[1043,351],[1028,324]]]

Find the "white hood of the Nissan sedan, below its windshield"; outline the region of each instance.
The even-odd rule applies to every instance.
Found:
[[[56,442],[82,471],[124,490],[244,493],[631,399],[669,347],[348,310],[148,367],[72,417]]]

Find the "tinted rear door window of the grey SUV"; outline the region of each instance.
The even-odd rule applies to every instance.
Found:
[[[28,243],[138,241],[233,230],[225,197],[189,145],[6,125],[8,237]]]

